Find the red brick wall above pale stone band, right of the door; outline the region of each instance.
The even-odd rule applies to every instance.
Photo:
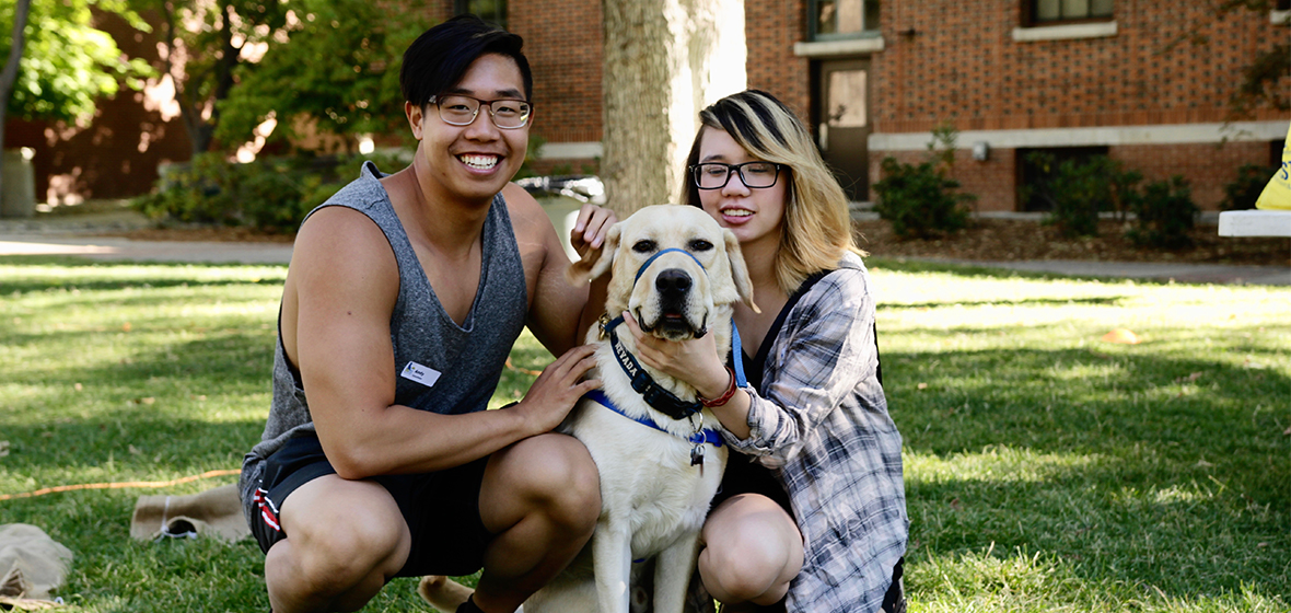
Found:
[[[1268,12],[1217,18],[1207,3],[1119,0],[1115,36],[1015,43],[1020,5],[884,3],[875,132],[941,121],[959,130],[1224,121],[1241,68],[1291,36]],[[1190,27],[1208,43],[1186,40]],[[1261,110],[1255,119],[1287,116]]]

